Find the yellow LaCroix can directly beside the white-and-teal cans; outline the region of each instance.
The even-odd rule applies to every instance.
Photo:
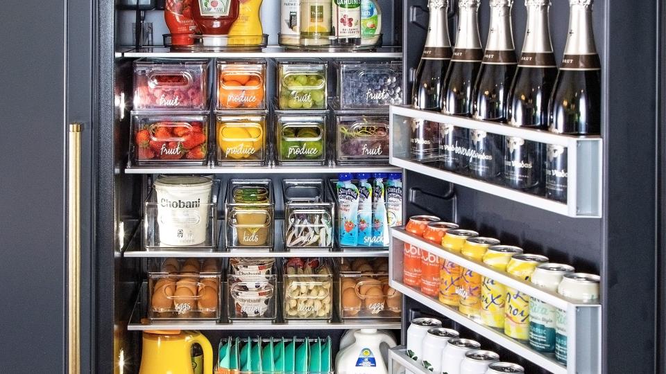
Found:
[[[515,255],[506,265],[506,272],[529,281],[539,264],[548,262],[546,256],[533,254]],[[529,295],[506,287],[504,305],[504,334],[513,339],[529,340]]]

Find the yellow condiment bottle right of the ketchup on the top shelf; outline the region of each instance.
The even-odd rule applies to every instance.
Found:
[[[231,46],[257,46],[262,44],[262,1],[240,0],[238,18],[229,30],[229,45]]]

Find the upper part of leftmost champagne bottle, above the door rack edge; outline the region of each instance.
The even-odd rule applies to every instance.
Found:
[[[444,76],[451,61],[451,40],[446,12],[448,0],[429,0],[430,23],[412,91],[413,106],[439,112]]]

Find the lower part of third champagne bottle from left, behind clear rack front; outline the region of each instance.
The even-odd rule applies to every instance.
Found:
[[[492,181],[502,173],[502,136],[470,130],[470,175]]]

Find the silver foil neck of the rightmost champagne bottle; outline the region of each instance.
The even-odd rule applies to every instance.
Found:
[[[597,53],[592,31],[592,5],[575,4],[570,8],[569,36],[565,55],[594,55]]]

